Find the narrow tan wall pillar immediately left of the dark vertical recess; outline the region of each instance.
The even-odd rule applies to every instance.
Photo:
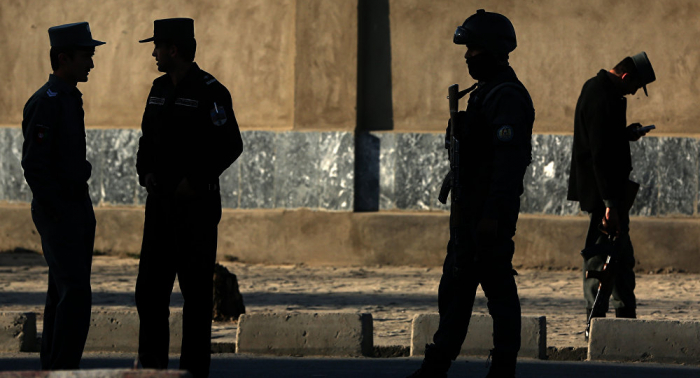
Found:
[[[352,130],[357,85],[357,0],[296,3],[294,128]]]

